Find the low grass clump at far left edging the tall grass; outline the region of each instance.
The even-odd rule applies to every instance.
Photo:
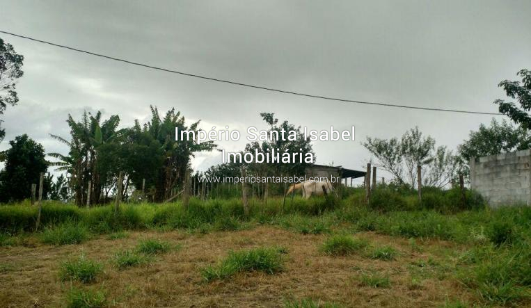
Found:
[[[68,245],[79,244],[89,238],[84,225],[65,222],[56,227],[46,227],[42,232],[41,241],[46,244]]]

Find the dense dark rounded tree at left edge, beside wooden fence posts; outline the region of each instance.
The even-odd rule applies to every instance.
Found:
[[[40,172],[48,168],[44,148],[28,135],[17,136],[9,144],[10,149],[5,151],[6,167],[0,172],[0,202],[31,197],[31,184],[38,184]]]

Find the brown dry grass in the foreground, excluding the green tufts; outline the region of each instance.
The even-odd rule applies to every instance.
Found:
[[[59,264],[80,253],[104,264],[104,275],[91,287],[106,290],[116,307],[282,307],[286,300],[312,298],[347,307],[440,307],[447,300],[470,302],[472,293],[454,278],[412,270],[419,260],[429,258],[444,264],[447,250],[459,247],[443,241],[418,243],[422,252],[411,249],[406,239],[370,232],[360,234],[374,245],[392,245],[399,254],[390,261],[351,254],[333,257],[319,252],[325,236],[303,235],[274,227],[237,232],[187,234],[174,232],[130,232],[128,238],[110,241],[102,236],[79,245],[34,244],[35,247],[0,248],[0,302],[7,307],[62,307],[70,282],[61,282]],[[134,249],[143,238],[158,238],[180,250],[157,255],[154,261],[117,270],[112,256]],[[390,244],[391,243],[391,244]],[[200,268],[215,265],[230,250],[283,245],[285,268],[267,275],[238,273],[230,279],[204,282]],[[412,265],[413,264],[413,265]],[[422,269],[421,269],[422,270]],[[390,279],[388,288],[364,286],[359,277],[380,273]],[[422,279],[411,288],[412,279]],[[72,282],[74,286],[83,285]]]

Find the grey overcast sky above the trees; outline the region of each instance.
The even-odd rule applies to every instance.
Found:
[[[498,83],[531,68],[531,1],[0,1],[0,29],[100,54],[219,79],[315,95],[497,112]],[[317,142],[317,163],[363,169],[366,136],[418,126],[455,149],[489,115],[363,106],[193,79],[0,33],[24,55],[19,104],[3,115],[47,152],[68,149],[68,113],[149,120],[150,104],[189,120],[264,128],[274,112],[309,129],[356,126],[355,142]],[[500,117],[502,118],[502,117]],[[244,135],[245,136],[245,135]],[[221,143],[239,150],[239,143]],[[219,163],[200,154],[194,167]]]

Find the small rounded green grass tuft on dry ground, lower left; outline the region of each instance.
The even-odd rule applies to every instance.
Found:
[[[78,280],[84,284],[94,282],[97,275],[102,273],[102,264],[86,259],[84,254],[79,258],[65,261],[61,264],[59,277],[62,280]]]

